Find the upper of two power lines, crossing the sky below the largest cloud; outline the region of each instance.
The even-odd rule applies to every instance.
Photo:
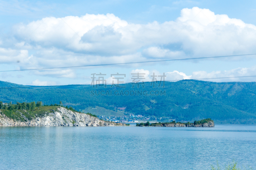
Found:
[[[199,58],[182,58],[182,59],[171,59],[171,60],[140,61],[140,62],[130,62],[130,63],[98,64],[98,65],[86,65],[86,66],[35,68],[35,69],[23,69],[23,70],[7,70],[7,71],[0,71],[0,72],[29,71],[29,70],[46,70],[46,69],[57,69],[57,68],[75,68],[75,67],[91,67],[91,66],[109,66],[109,65],[120,65],[120,64],[136,64],[136,63],[153,63],[153,62],[163,62],[163,61],[179,61],[179,60],[193,60],[193,59],[221,58],[221,57],[236,57],[236,56],[249,56],[249,55],[256,55],[256,54],[241,54],[241,55],[231,55],[231,56],[199,57]]]

